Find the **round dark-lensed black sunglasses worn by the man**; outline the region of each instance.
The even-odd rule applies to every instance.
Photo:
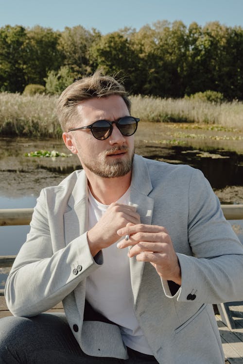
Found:
[[[111,135],[113,130],[113,124],[116,124],[118,130],[121,132],[122,135],[131,136],[136,132],[138,128],[139,120],[140,119],[138,117],[133,116],[124,116],[116,121],[98,120],[87,126],[69,129],[69,132],[81,129],[90,129],[96,139],[105,140]]]

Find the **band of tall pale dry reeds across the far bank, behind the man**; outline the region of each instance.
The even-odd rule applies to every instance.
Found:
[[[243,129],[243,102],[215,104],[189,99],[131,96],[132,115],[141,121],[218,124]],[[57,97],[0,93],[0,134],[54,137],[62,131],[55,115]]]

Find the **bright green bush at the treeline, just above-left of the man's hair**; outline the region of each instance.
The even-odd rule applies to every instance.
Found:
[[[68,66],[61,66],[58,72],[48,72],[46,81],[46,92],[51,95],[60,95],[62,91],[73,82],[73,76]]]

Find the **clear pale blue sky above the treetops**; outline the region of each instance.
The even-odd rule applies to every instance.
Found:
[[[0,27],[40,25],[62,31],[82,25],[107,34],[125,26],[138,31],[157,20],[182,20],[186,26],[218,20],[243,27],[243,0],[0,0]]]

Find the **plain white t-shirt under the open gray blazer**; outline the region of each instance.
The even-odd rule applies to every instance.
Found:
[[[129,197],[130,188],[117,202],[128,205]],[[88,191],[88,230],[108,207]],[[103,249],[104,264],[87,277],[86,298],[97,312],[120,327],[122,340],[127,347],[153,355],[133,312],[128,248],[119,249],[117,243]]]

